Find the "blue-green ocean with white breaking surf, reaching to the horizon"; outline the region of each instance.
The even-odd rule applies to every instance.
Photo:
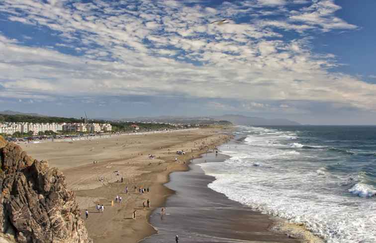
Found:
[[[376,126],[238,126],[200,166],[229,199],[327,243],[376,243]]]

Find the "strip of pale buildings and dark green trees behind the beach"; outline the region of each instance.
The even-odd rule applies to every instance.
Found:
[[[9,114],[10,113],[10,114]],[[87,117],[66,118],[41,116],[38,114],[12,114],[16,112],[0,112],[0,135],[12,141],[65,139],[87,137],[104,134],[120,134],[134,132],[166,131],[191,127],[231,124],[227,121],[213,119],[166,119],[165,121],[147,118],[142,120],[100,120]]]

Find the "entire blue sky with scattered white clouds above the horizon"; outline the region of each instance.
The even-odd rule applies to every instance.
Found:
[[[376,124],[374,9],[375,0],[1,0],[0,110]]]

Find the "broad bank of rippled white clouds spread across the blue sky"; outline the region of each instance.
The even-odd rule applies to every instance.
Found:
[[[69,8],[60,1],[4,0],[0,11],[16,13],[10,21],[58,31],[61,42],[55,46],[83,55],[23,46],[0,34],[0,73],[6,80],[0,81],[6,90],[0,96],[182,95],[240,99],[245,109],[273,108],[254,100],[287,99],[376,107],[375,84],[330,73],[334,57],[310,49],[306,31],[356,28],[335,17],[339,6],[332,0],[290,12],[281,9],[288,5],[284,0],[226,2],[217,8],[187,7],[181,1],[121,3],[127,8],[117,1]],[[255,4],[278,7],[283,19],[208,24],[218,13],[257,14]],[[274,28],[305,34],[285,41]],[[274,108],[287,109],[284,105]]]

